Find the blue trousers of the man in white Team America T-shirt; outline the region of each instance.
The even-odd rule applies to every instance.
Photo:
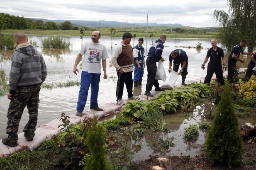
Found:
[[[87,101],[88,91],[91,85],[91,104],[90,107],[98,107],[98,93],[99,93],[99,82],[100,75],[95,73],[88,73],[87,71],[82,71],[80,90],[78,95],[78,102],[76,110],[83,112]]]

